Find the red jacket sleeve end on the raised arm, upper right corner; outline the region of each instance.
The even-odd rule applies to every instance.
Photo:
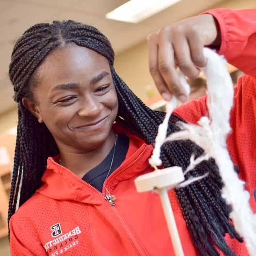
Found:
[[[219,54],[245,74],[256,77],[256,8],[219,8],[205,13],[214,16],[220,25]]]

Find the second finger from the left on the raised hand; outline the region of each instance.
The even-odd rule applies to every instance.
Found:
[[[179,81],[179,76],[175,68],[173,45],[170,38],[167,37],[168,34],[167,32],[159,34],[158,69],[161,77],[165,81],[168,92],[176,97],[185,96],[186,98],[186,92]],[[182,98],[181,100],[184,101]]]

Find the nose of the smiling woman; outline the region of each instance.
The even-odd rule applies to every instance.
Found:
[[[78,115],[81,117],[96,117],[100,114],[102,110],[102,105],[97,102],[97,100],[92,97],[84,97],[81,101],[80,110]]]

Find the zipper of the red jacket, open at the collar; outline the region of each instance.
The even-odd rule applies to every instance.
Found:
[[[118,171],[118,173],[115,173],[114,176],[116,176],[117,174],[119,174],[120,172],[124,171],[125,169],[128,169],[131,165],[133,165],[137,160],[139,160],[141,158],[141,156],[144,154],[144,152],[146,151],[147,146],[144,147],[144,149],[142,150],[142,152],[133,160],[131,161],[128,165],[124,166],[122,169],[120,169]],[[55,164],[61,166],[62,168],[70,171],[69,169],[67,169],[66,167],[64,167],[63,165],[57,163],[54,161]],[[109,179],[106,180],[106,185],[110,183],[110,180],[112,180],[112,178],[114,176],[109,176]],[[89,184],[88,182],[80,179],[82,182],[86,183],[87,185],[89,185],[91,188],[93,188],[94,190],[96,190],[96,192],[100,193],[101,195],[103,195],[104,199],[106,201],[108,201],[110,203],[110,205],[112,206],[112,210],[114,211],[115,215],[117,216],[120,224],[123,226],[126,234],[128,235],[128,239],[130,240],[131,244],[133,245],[133,247],[135,248],[135,251],[137,251],[139,253],[140,256],[146,256],[147,254],[144,253],[144,250],[140,247],[140,245],[138,244],[138,242],[134,239],[128,225],[125,223],[124,219],[122,218],[120,212],[113,206],[115,206],[115,203],[111,200],[111,196],[113,195],[108,195],[108,194],[103,194],[102,192],[100,192],[99,190],[97,190],[95,187],[93,187],[91,184]],[[104,188],[104,187],[103,187]]]

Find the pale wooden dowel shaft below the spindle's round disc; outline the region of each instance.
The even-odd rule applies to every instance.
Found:
[[[171,236],[171,240],[173,243],[175,255],[184,256],[181,242],[179,239],[178,230],[177,230],[175,219],[174,219],[173,209],[168,197],[167,189],[166,188],[158,189],[158,193],[160,196],[160,200],[161,200],[163,211],[164,211],[164,216],[165,216],[169,233]]]

